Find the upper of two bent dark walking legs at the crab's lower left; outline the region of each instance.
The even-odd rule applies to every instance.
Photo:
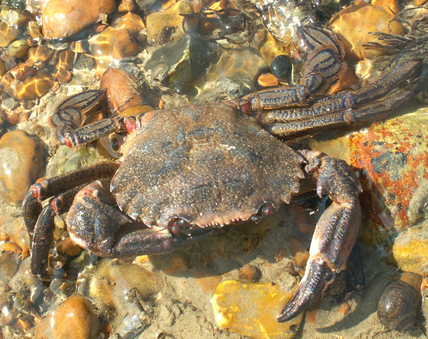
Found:
[[[88,183],[99,178],[111,177],[118,167],[119,165],[116,163],[104,162],[82,169],[76,169],[31,185],[22,203],[22,216],[24,217],[30,237],[33,237],[36,221],[40,212],[42,212],[41,201],[83,183]]]

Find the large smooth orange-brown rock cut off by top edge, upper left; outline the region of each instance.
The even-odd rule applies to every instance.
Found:
[[[47,0],[42,1],[42,33],[47,39],[61,39],[94,24],[101,14],[110,14],[116,7],[115,0],[91,1]]]

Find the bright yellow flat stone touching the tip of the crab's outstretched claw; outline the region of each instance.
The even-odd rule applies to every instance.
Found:
[[[291,293],[271,283],[225,280],[213,293],[215,323],[221,329],[254,339],[293,338],[303,313],[285,323],[276,320],[290,297]]]

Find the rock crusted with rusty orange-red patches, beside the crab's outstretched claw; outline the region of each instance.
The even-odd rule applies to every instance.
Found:
[[[416,196],[424,192],[428,179],[426,115],[427,109],[420,109],[336,139],[315,137],[309,142],[311,149],[363,170],[360,201],[367,212],[362,227],[366,243],[389,248],[397,233],[418,221],[424,198]]]

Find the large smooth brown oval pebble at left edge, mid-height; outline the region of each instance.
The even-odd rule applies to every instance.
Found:
[[[6,202],[20,205],[42,175],[42,145],[26,131],[7,132],[0,139],[0,159],[0,194]]]

